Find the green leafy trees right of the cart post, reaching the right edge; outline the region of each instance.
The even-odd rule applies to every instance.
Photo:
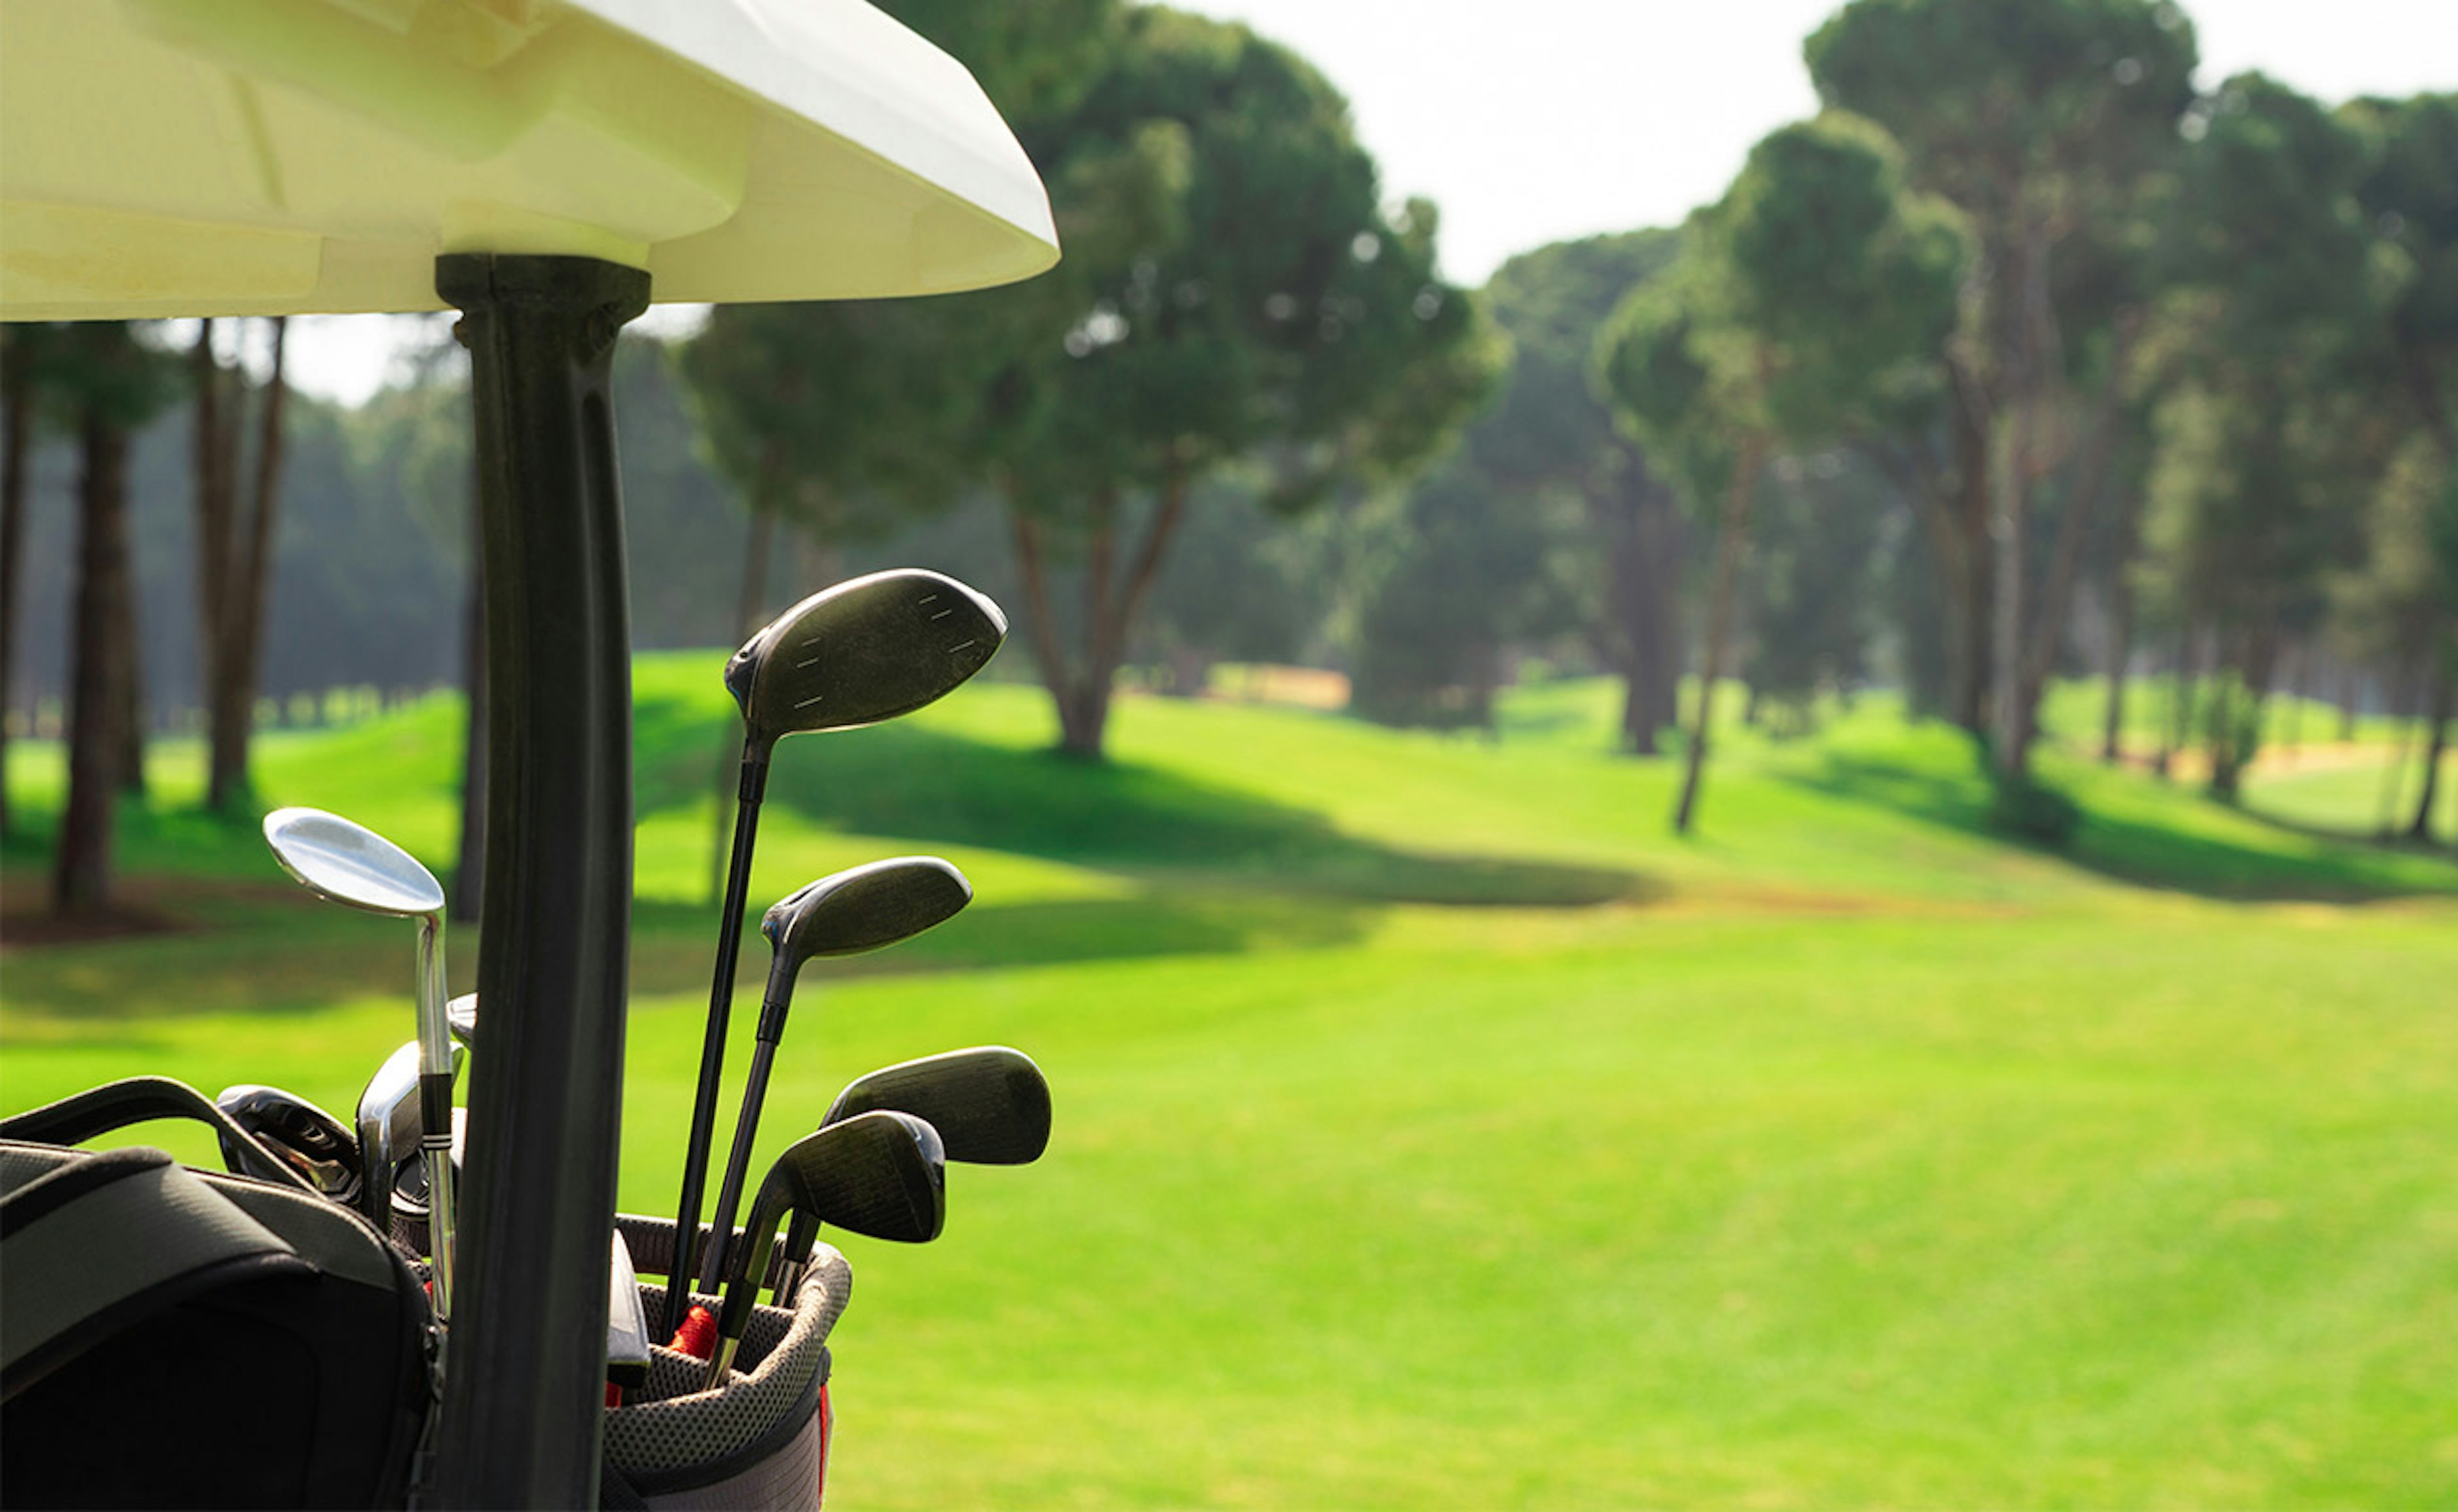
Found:
[[[1241,27],[892,10],[1018,120],[1067,263],[728,310],[683,369],[725,474],[831,548],[1003,509],[1067,750],[1126,664],[1200,688],[1266,652],[1408,723],[1490,723],[1531,652],[1608,669],[1630,752],[1681,725],[1676,826],[1735,671],[1797,728],[1883,669],[2045,838],[2057,674],[2107,676],[2119,760],[2131,674],[2165,671],[2136,755],[2197,747],[2222,799],[2291,676],[2446,742],[2451,96],[2197,93],[2156,0],[1856,0],[1804,47],[1821,113],[1716,204],[1472,295],[1431,207],[1376,207],[1337,93]]]

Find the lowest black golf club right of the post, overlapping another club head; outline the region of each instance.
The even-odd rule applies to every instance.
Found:
[[[777,1244],[777,1219],[789,1210],[811,1215],[814,1224],[873,1239],[929,1244],[946,1227],[946,1153],[939,1131],[912,1114],[855,1114],[801,1136],[777,1156],[752,1200],[742,1261],[725,1286],[708,1389],[725,1384]]]

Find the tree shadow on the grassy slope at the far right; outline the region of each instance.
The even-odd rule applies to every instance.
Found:
[[[1895,809],[1898,814],[1944,829],[2020,843],[2008,841],[1989,826],[1989,784],[1979,772],[1939,772],[1905,762],[1829,752],[1816,772],[1792,774],[1787,782],[1858,804]],[[2089,804],[2084,804],[2082,829],[2075,833],[2072,846],[2062,851],[2033,848],[2138,888],[2165,888],[2237,902],[2365,902],[2458,892],[2458,868],[2451,868],[2443,878],[2433,878],[2411,863],[2401,863],[2397,856],[2374,853],[2345,836],[2291,831],[2244,809],[2234,809],[2234,814],[2281,833],[2298,833],[2313,848],[2301,856],[2261,851],[2121,814],[2104,814]]]

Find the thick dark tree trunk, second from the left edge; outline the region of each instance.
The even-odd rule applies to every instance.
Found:
[[[69,801],[59,816],[52,907],[111,912],[111,821],[128,715],[128,433],[98,406],[84,415],[76,639],[69,674]]]

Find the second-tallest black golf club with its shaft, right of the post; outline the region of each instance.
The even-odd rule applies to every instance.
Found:
[[[725,1251],[742,1207],[742,1180],[750,1175],[752,1138],[760,1133],[760,1106],[767,1099],[769,1067],[784,1038],[787,1010],[794,1003],[794,978],[814,956],[853,956],[912,939],[941,924],[973,900],[964,873],[936,856],[897,856],[853,865],[809,883],[760,919],[769,942],[769,978],[760,996],[760,1030],[752,1042],[752,1069],[742,1087],[742,1111],[735,1116],[735,1143],[725,1156],[725,1180],[718,1185],[715,1234],[703,1276],[718,1288]],[[673,1291],[669,1288],[669,1298]],[[666,1303],[669,1310],[673,1303]]]

